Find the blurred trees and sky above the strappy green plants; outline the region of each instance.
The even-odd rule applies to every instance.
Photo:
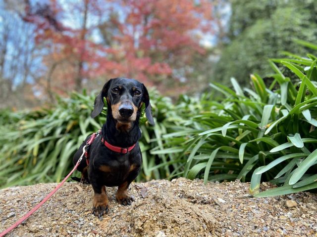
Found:
[[[314,0],[1,0],[0,107],[31,108],[124,76],[163,95],[249,83],[306,52]]]

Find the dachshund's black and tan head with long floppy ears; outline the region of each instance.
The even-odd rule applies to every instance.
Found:
[[[104,108],[104,97],[108,110],[116,120],[116,127],[122,125],[130,127],[140,114],[143,102],[145,103],[145,115],[150,124],[154,125],[152,117],[150,96],[143,83],[127,78],[115,78],[106,82],[101,92],[95,99],[95,107],[91,117],[97,117]]]

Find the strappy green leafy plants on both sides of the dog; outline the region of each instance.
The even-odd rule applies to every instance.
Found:
[[[317,50],[315,44],[297,43]],[[240,179],[251,181],[256,197],[317,188],[317,57],[292,55],[269,65],[274,71],[269,86],[257,74],[251,76],[253,89],[242,88],[235,79],[233,89],[212,83],[223,95],[219,98],[183,95],[173,105],[151,91],[156,125],[141,118],[143,167],[137,181]],[[2,113],[0,185],[59,181],[84,138],[105,122],[105,116],[97,121],[89,117],[93,100],[73,93],[56,108]],[[282,186],[259,193],[261,180]]]

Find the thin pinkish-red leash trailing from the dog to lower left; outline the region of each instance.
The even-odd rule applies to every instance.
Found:
[[[83,147],[83,154],[80,156],[80,158],[78,159],[77,163],[75,164],[74,168],[72,169],[72,171],[70,171],[70,173],[63,179],[63,181],[61,181],[56,188],[49,193],[49,195],[47,197],[45,197],[39,204],[37,204],[35,207],[33,207],[32,210],[30,210],[28,213],[26,213],[23,217],[21,217],[17,222],[15,222],[12,226],[10,226],[8,229],[6,229],[5,231],[3,231],[2,233],[0,233],[0,237],[5,236],[6,234],[8,234],[10,231],[12,231],[15,227],[17,227],[18,225],[20,225],[24,220],[26,220],[27,218],[29,218],[37,209],[39,209],[44,202],[46,202],[50,197],[53,196],[53,194],[63,185],[63,183],[65,183],[65,181],[69,178],[69,176],[75,171],[75,169],[77,168],[77,166],[79,165],[80,161],[83,158],[83,155],[85,153],[85,148],[86,146]]]

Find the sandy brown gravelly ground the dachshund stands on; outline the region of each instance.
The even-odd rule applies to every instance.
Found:
[[[40,202],[56,184],[0,190],[0,232]],[[268,188],[264,183],[262,189]],[[248,197],[249,184],[179,178],[133,183],[135,202],[121,206],[107,188],[110,211],[91,214],[91,186],[65,183],[24,224],[7,236],[196,237],[317,236],[317,195]]]

